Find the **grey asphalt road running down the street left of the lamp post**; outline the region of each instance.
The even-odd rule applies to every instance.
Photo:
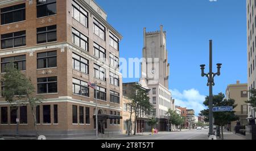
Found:
[[[192,129],[179,132],[159,132],[155,135],[120,137],[111,140],[208,140],[209,129]]]

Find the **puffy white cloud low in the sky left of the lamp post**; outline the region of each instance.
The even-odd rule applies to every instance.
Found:
[[[187,109],[195,110],[195,115],[197,116],[201,110],[206,107],[203,102],[205,96],[201,95],[196,89],[184,90],[182,93],[177,90],[171,90],[172,98],[175,99],[175,106],[187,107]]]

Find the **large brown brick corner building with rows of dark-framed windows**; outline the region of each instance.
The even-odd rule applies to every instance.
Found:
[[[39,133],[96,134],[96,93],[88,82],[97,83],[97,112],[106,117],[106,132],[121,133],[122,36],[107,22],[104,10],[92,0],[1,0],[0,9],[1,74],[14,61],[31,78],[36,95],[44,97],[36,108]],[[34,133],[30,106],[20,107],[16,117],[1,97],[0,109],[1,134],[15,133],[16,118],[19,133]]]

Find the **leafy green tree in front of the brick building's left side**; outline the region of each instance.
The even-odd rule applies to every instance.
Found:
[[[34,97],[33,94],[35,93],[35,87],[26,75],[20,73],[19,70],[16,69],[13,62],[6,66],[5,71],[6,73],[1,77],[2,85],[4,85],[3,97],[6,102],[10,103],[16,110],[16,117],[18,117],[18,108],[20,106],[27,106],[27,104],[30,104],[34,119],[35,132],[36,136],[38,136],[35,107],[41,102],[41,99]],[[17,122],[17,128],[18,126],[19,122]]]

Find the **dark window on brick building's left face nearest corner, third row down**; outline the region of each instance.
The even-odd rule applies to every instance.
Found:
[[[57,67],[57,51],[37,54],[38,69]]]

